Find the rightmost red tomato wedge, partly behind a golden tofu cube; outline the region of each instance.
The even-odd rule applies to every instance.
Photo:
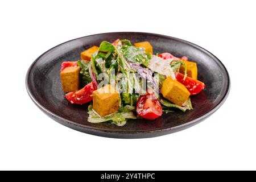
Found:
[[[177,81],[185,85],[191,95],[198,94],[199,92],[201,92],[201,90],[205,88],[205,84],[203,82],[195,80],[191,77],[187,76],[185,80],[183,80],[184,75],[179,72],[175,72],[175,77]]]

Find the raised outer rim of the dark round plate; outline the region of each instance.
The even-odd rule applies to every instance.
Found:
[[[163,38],[168,38],[168,39],[173,39],[173,40],[177,40],[179,42],[183,42],[185,44],[189,44],[192,47],[195,47],[197,49],[200,49],[200,51],[203,51],[205,53],[207,53],[210,57],[214,57],[214,61],[220,65],[220,67],[224,68],[224,71],[226,73],[226,81],[227,81],[227,86],[226,86],[226,90],[225,90],[225,94],[222,97],[222,99],[220,100],[220,102],[218,102],[218,104],[216,106],[214,106],[211,110],[208,111],[208,113],[205,113],[204,115],[201,115],[199,118],[193,119],[187,123],[181,124],[181,125],[177,125],[171,128],[167,128],[167,129],[158,129],[158,130],[147,130],[147,131],[116,131],[116,130],[111,130],[109,129],[108,131],[105,130],[101,130],[101,129],[97,129],[97,127],[89,127],[89,126],[85,126],[85,125],[80,125],[78,123],[75,123],[69,119],[65,119],[63,117],[60,117],[59,115],[53,113],[52,111],[46,109],[46,107],[44,107],[42,104],[40,104],[40,102],[38,100],[36,100],[36,98],[33,96],[31,90],[30,90],[30,85],[29,85],[29,78],[30,78],[30,73],[32,68],[34,67],[35,63],[40,59],[40,57],[42,57],[44,54],[46,54],[47,52],[52,51],[52,49],[59,47],[65,43],[68,42],[72,42],[73,40],[77,40],[77,39],[81,39],[81,38],[85,38],[87,36],[82,36],[80,38],[76,38],[76,39],[72,39],[72,40],[68,40],[67,42],[61,43],[55,47],[52,47],[51,49],[48,49],[48,51],[42,53],[42,55],[40,55],[28,68],[27,74],[26,74],[26,90],[28,95],[30,96],[31,100],[34,102],[34,104],[36,106],[39,107],[40,110],[42,110],[45,114],[47,114],[49,117],[53,118],[55,121],[70,127],[71,129],[75,129],[77,131],[82,131],[85,132],[88,131],[90,133],[93,133],[94,135],[100,135],[102,136],[100,133],[111,133],[111,134],[151,134],[151,133],[162,133],[164,132],[164,134],[160,134],[160,135],[165,135],[165,134],[169,134],[169,133],[174,133],[176,131],[180,131],[183,129],[187,129],[190,126],[195,125],[196,123],[199,123],[201,121],[203,121],[204,119],[208,118],[210,115],[212,115],[218,108],[220,108],[220,106],[222,104],[224,104],[224,102],[226,101],[226,98],[229,95],[230,92],[230,76],[228,73],[228,70],[226,69],[225,65],[216,57],[214,56],[211,52],[207,51],[207,49],[204,49],[203,47],[197,46],[194,43],[188,42],[187,40],[183,40],[183,39],[179,39],[179,38],[175,38],[172,36],[167,36],[167,35],[161,35],[161,34],[154,34],[154,33],[149,33],[149,32],[105,32],[105,33],[101,33],[101,34],[93,34],[94,36],[96,35],[102,35],[102,34],[147,34],[147,35],[155,35],[155,36],[162,36]],[[93,36],[93,35],[88,35],[88,36]],[[169,131],[169,132],[168,132]],[[98,133],[98,134],[97,134]],[[156,136],[159,136],[159,134],[156,134]],[[105,136],[103,136],[105,137]],[[109,137],[109,136],[108,136]],[[149,136],[148,136],[149,137]],[[155,136],[152,136],[155,137]],[[123,138],[123,137],[113,137],[113,138]],[[126,138],[126,137],[124,137]],[[144,138],[144,137],[135,137],[135,138]]]

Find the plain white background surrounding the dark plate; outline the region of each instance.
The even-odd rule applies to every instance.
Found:
[[[254,1],[1,1],[0,169],[256,169]],[[28,67],[70,39],[141,31],[188,40],[229,71],[228,100],[199,125],[112,139],[48,118],[28,97]]]

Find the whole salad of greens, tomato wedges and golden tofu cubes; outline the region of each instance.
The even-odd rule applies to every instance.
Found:
[[[156,119],[193,109],[190,97],[205,88],[188,57],[156,53],[150,42],[103,41],[60,69],[65,98],[88,106],[88,122],[124,126],[128,119]]]

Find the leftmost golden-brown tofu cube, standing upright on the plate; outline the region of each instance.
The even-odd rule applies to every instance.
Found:
[[[67,67],[60,72],[63,92],[75,92],[79,89],[80,67]]]

